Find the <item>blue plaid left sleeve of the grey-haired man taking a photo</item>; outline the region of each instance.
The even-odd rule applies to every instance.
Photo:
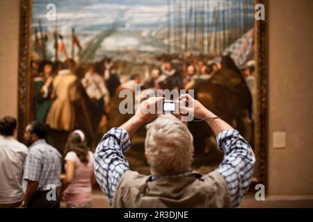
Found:
[[[120,178],[129,170],[124,154],[130,145],[126,130],[112,128],[104,135],[94,154],[95,176],[111,205]]]

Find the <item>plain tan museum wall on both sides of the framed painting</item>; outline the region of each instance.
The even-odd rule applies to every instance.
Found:
[[[268,1],[270,196],[313,195],[313,1]],[[309,19],[310,18],[310,19]],[[17,116],[19,1],[0,1],[0,117]],[[286,133],[285,148],[273,133]]]

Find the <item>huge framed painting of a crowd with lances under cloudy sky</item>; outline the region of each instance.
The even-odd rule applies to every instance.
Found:
[[[26,16],[31,19],[26,44],[28,115],[23,118],[46,123],[49,143],[61,152],[75,129],[86,133],[94,150],[104,133],[131,117],[119,110],[122,89],[134,92],[140,85],[134,101],[158,89],[193,90],[196,99],[255,149],[256,177],[264,180],[264,31],[255,21],[256,3],[23,1],[22,22]],[[223,159],[214,134],[201,121],[189,122],[188,128],[194,138],[193,167],[203,173],[214,170]],[[127,160],[132,169],[147,174],[144,142],[141,128],[132,138]]]

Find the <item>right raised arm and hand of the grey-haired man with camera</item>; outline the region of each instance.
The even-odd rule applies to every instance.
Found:
[[[195,118],[207,121],[217,136],[218,147],[225,153],[217,171],[225,179],[232,204],[237,207],[248,191],[252,180],[255,165],[252,148],[237,130],[204,108],[199,101],[188,94],[180,96],[179,99],[186,100],[190,106],[183,107],[184,112],[193,112]]]

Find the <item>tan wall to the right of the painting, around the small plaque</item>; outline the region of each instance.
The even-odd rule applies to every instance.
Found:
[[[268,194],[313,195],[313,1],[268,1]],[[286,146],[273,147],[273,133]]]

